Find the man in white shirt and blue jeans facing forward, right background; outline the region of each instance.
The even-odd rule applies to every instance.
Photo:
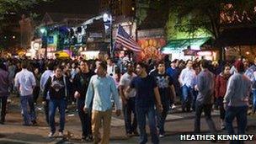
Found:
[[[195,79],[195,71],[193,70],[193,62],[187,61],[187,67],[182,70],[179,76],[179,83],[182,86],[182,111],[187,112],[191,109],[191,100],[193,98],[193,82]]]

